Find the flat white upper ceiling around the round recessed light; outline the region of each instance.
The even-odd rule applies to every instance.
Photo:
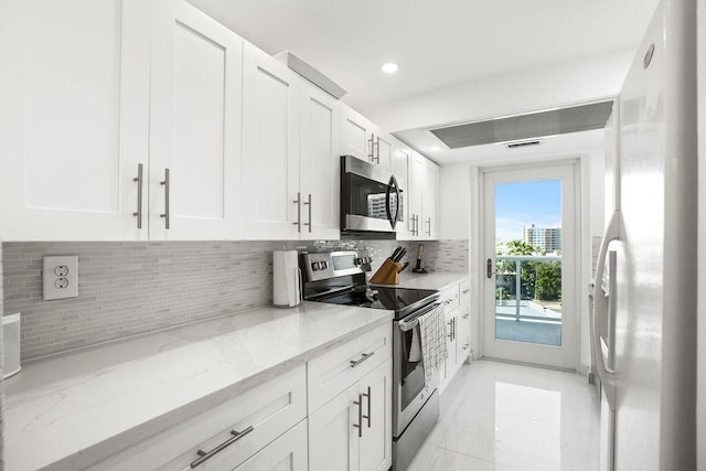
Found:
[[[270,54],[291,50],[346,88],[343,100],[359,110],[404,103],[431,90],[506,76],[513,71],[637,47],[657,3],[189,1]],[[386,75],[381,65],[391,61],[402,67],[397,74]],[[442,124],[431,119],[437,121],[426,127]],[[453,156],[450,161],[457,159]]]

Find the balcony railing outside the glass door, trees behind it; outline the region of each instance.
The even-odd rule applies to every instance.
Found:
[[[495,256],[495,317],[561,322],[561,257]]]

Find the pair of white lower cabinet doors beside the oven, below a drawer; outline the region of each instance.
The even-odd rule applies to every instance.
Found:
[[[310,471],[392,465],[392,357],[309,417]]]

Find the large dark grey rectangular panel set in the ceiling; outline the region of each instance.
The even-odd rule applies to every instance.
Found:
[[[546,136],[602,129],[612,108],[612,100],[600,101],[453,125],[429,131],[450,149],[485,143],[520,143],[520,141],[536,140]]]

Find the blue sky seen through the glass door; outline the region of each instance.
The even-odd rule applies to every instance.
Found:
[[[495,240],[522,239],[522,227],[561,226],[561,182],[542,180],[495,185]]]

